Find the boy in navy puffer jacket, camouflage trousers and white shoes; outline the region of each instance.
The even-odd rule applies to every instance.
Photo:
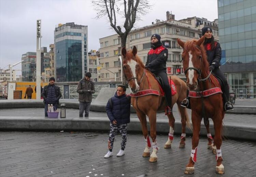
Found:
[[[121,149],[116,156],[120,157],[125,154],[127,123],[130,122],[131,97],[125,94],[126,87],[119,85],[115,96],[109,99],[106,105],[106,113],[110,120],[109,133],[109,151],[104,158],[113,156],[112,148],[115,140],[115,135],[119,131],[122,135]]]

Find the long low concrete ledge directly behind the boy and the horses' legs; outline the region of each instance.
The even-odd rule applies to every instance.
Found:
[[[0,129],[1,130],[53,130],[53,131],[109,131],[109,120],[107,118],[45,118],[45,117],[1,117],[0,116]],[[147,125],[149,128],[149,123]],[[158,120],[156,124],[157,133],[168,134],[169,125],[167,121]],[[150,130],[150,129],[148,129]],[[131,119],[128,124],[129,132],[142,132],[141,124],[138,119]],[[211,134],[214,135],[213,125],[210,124]],[[174,132],[176,135],[181,134],[181,123],[176,122]],[[223,136],[226,139],[243,139],[256,141],[256,127],[254,126],[237,126],[226,124],[223,127]],[[142,134],[142,133],[141,133]],[[190,129],[186,128],[186,134],[192,135]],[[201,136],[206,136],[207,131],[203,124],[200,130]]]

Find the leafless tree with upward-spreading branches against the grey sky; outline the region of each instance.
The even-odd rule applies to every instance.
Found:
[[[107,16],[111,27],[120,36],[121,48],[126,47],[126,38],[135,21],[145,15],[151,7],[148,0],[95,0],[92,2],[97,11],[96,18]],[[124,18],[123,28],[118,25],[118,20],[122,18]]]

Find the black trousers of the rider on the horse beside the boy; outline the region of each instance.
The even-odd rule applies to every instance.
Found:
[[[172,99],[171,99],[171,87],[168,81],[168,76],[165,71],[154,72],[154,74],[158,77],[161,77],[163,80],[163,91],[165,91],[167,105],[171,107]]]

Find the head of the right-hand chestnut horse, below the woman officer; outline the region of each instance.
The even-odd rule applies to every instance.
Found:
[[[208,62],[206,59],[207,56],[203,47],[201,46],[204,41],[204,36],[197,41],[190,40],[184,43],[179,38],[177,39],[177,41],[179,45],[183,48],[182,61],[185,75],[187,78],[187,87],[190,91],[194,91],[197,89],[198,82],[201,79],[202,70],[203,72],[205,72],[204,67],[208,66]]]

